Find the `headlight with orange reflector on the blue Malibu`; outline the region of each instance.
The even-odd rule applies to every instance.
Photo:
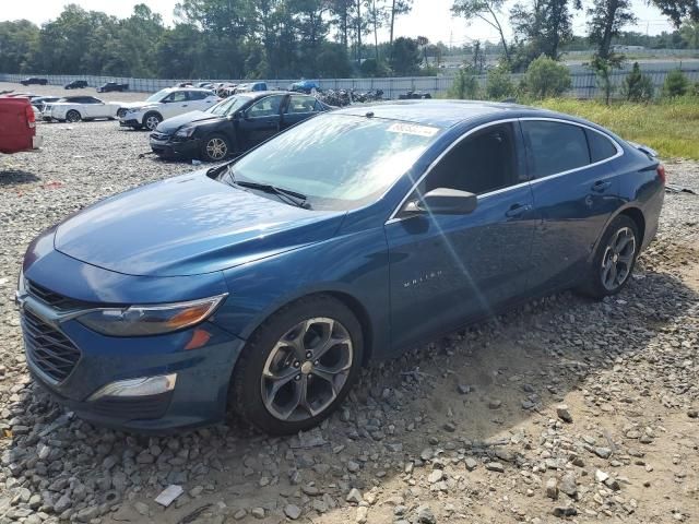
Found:
[[[226,296],[223,294],[188,302],[95,309],[76,320],[108,336],[161,335],[203,322]]]

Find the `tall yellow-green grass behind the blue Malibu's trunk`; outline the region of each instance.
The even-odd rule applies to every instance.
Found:
[[[699,160],[699,97],[653,104],[550,98],[535,105],[603,126],[625,140],[645,144],[664,158]]]

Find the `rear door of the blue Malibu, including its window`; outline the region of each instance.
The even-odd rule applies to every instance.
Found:
[[[621,148],[574,122],[523,119],[521,126],[534,205],[542,216],[532,252],[540,271],[531,284],[536,289],[557,288],[587,271],[596,240],[621,205],[609,163]]]

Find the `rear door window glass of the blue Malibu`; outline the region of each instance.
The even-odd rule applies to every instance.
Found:
[[[590,164],[588,139],[583,128],[546,120],[523,120],[530,172],[547,177]]]

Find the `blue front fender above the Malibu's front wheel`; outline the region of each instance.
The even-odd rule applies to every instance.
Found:
[[[230,290],[216,322],[248,338],[283,306],[318,293],[360,305],[376,356],[390,354],[389,266],[383,228],[341,235],[224,271]]]

